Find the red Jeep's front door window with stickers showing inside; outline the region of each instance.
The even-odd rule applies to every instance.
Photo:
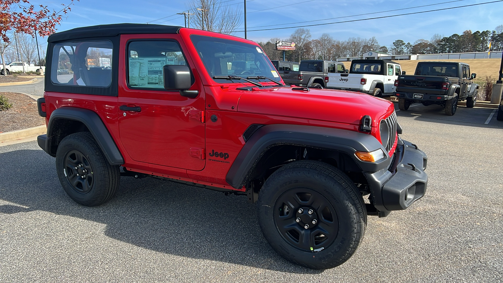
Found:
[[[127,54],[131,88],[164,89],[164,65],[187,65],[176,41],[131,41]]]

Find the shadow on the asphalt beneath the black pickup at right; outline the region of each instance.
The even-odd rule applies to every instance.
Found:
[[[485,124],[492,111],[495,108],[467,108],[458,106],[456,113],[453,116],[448,116],[444,112],[444,108],[439,105],[424,106],[421,104],[413,105],[406,111],[397,111],[398,117],[410,117],[417,121],[427,121],[434,123],[443,123],[450,125],[465,125],[482,128],[503,129],[503,123],[496,120],[496,114],[488,124]],[[398,107],[395,107],[398,109]]]

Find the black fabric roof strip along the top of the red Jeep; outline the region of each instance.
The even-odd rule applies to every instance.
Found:
[[[182,27],[150,25],[150,24],[110,24],[91,27],[75,28],[51,34],[47,42],[56,42],[74,38],[116,36],[119,34],[153,34],[153,33],[178,33]]]

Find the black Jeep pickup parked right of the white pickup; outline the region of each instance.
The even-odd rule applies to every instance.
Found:
[[[395,81],[398,108],[407,110],[410,104],[425,106],[437,104],[445,107],[446,115],[454,115],[458,101],[466,100],[466,107],[475,106],[478,85],[472,80],[470,66],[460,62],[419,62],[414,76],[402,75]]]

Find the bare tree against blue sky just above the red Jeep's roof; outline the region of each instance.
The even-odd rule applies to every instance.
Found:
[[[196,29],[233,34],[241,22],[238,9],[222,5],[220,0],[191,0],[188,5]]]

